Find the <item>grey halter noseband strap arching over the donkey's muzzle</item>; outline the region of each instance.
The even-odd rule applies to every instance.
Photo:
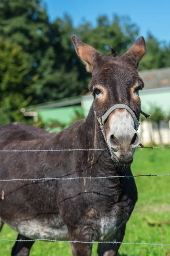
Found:
[[[133,118],[133,121],[134,121],[134,124],[136,126],[136,131],[137,131],[138,127],[139,127],[139,121],[138,121],[135,113],[133,112],[133,110],[125,104],[116,104],[116,105],[113,105],[111,108],[109,108],[108,111],[106,111],[104,113],[104,115],[101,117],[101,125],[102,126],[105,125],[105,121],[108,118],[108,116],[117,108],[124,108],[131,114],[131,116]]]

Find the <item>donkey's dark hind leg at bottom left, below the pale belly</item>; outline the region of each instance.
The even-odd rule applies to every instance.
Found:
[[[28,237],[18,234],[17,240],[19,239],[30,240]],[[29,256],[29,251],[33,244],[34,241],[17,241],[12,248],[11,256]]]

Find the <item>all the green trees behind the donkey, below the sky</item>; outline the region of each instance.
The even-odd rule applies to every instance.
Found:
[[[74,27],[65,15],[50,22],[41,0],[0,0],[0,125],[26,122],[20,108],[87,92],[90,74],[77,57],[71,35],[103,54],[108,44],[118,54],[140,35],[128,17],[100,16],[97,25]],[[153,35],[146,38],[147,54],[139,69],[170,66],[170,45]]]

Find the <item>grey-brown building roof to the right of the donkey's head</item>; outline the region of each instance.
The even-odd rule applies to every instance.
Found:
[[[139,71],[144,90],[170,87],[170,67]]]

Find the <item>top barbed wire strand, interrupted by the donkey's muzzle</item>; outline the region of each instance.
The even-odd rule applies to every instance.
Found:
[[[150,148],[150,149],[156,149],[156,148],[170,148],[170,146],[164,146],[164,147],[141,147],[141,148]],[[139,148],[136,148],[139,149]],[[84,148],[67,148],[67,149],[26,149],[26,150],[17,150],[17,149],[4,149],[0,150],[0,152],[55,152],[55,151],[103,151],[103,150],[108,150],[108,148],[89,148],[89,149],[84,149]]]

